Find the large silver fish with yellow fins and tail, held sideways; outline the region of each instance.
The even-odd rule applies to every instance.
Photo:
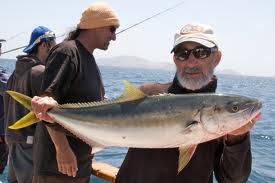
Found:
[[[179,148],[178,172],[197,144],[219,138],[249,123],[262,107],[257,99],[226,94],[146,96],[125,81],[115,100],[59,105],[48,111],[58,124],[97,152],[104,147]],[[31,98],[8,93],[31,110]],[[10,126],[38,122],[33,112]]]

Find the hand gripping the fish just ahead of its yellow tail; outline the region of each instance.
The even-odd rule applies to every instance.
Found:
[[[31,106],[36,117],[40,120],[54,123],[54,118],[47,114],[47,111],[51,108],[58,106],[58,103],[52,97],[33,97]]]

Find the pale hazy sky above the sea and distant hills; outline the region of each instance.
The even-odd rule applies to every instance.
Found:
[[[26,45],[33,28],[49,27],[57,35],[74,27],[91,0],[1,0],[0,38],[9,39],[3,51]],[[117,10],[120,29],[171,7],[181,0],[109,0]],[[118,35],[108,51],[95,57],[138,56],[172,62],[174,33],[189,22],[210,24],[223,57],[219,70],[233,69],[257,76],[275,76],[274,0],[186,0],[180,7]],[[60,40],[61,41],[61,40]],[[15,58],[22,50],[2,58]]]

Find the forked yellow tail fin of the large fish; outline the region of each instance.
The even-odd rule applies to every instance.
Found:
[[[7,91],[7,93],[17,102],[19,102],[20,104],[22,104],[24,107],[26,107],[28,110],[32,110],[31,108],[31,100],[32,98],[15,92],[15,91]],[[22,117],[21,119],[19,119],[18,121],[16,121],[13,125],[9,126],[10,129],[20,129],[20,128],[24,128],[27,126],[30,126],[32,124],[35,124],[37,122],[39,122],[40,120],[35,116],[34,112],[29,112],[26,116]]]

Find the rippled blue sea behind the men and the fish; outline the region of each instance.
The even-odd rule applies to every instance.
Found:
[[[8,70],[14,68],[14,62],[1,61],[0,65]],[[144,82],[168,82],[174,77],[174,71],[145,70],[118,67],[100,67],[108,98],[115,98],[123,91],[122,80],[128,80],[136,86]],[[240,94],[258,98],[263,102],[262,119],[251,131],[252,171],[249,183],[275,182],[275,78],[218,75],[218,92]],[[119,167],[126,148],[108,148],[96,154],[95,159]],[[7,170],[0,175],[6,181]],[[93,177],[93,183],[104,183]]]

